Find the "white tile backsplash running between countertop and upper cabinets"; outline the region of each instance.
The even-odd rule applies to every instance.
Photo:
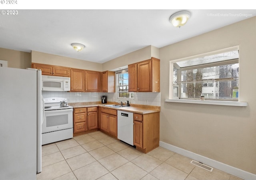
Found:
[[[54,92],[42,91],[44,98],[62,97],[67,98],[68,102],[95,102],[101,101],[101,96],[107,96],[107,101],[122,101],[129,100],[130,104],[144,104],[151,106],[160,106],[160,92],[135,92],[133,99],[117,98],[116,93],[106,92]]]

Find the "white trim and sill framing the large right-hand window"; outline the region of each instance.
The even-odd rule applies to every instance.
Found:
[[[169,80],[173,79],[173,66],[174,66],[175,62],[199,58],[202,56],[210,56],[212,54],[218,54],[221,52],[232,51],[232,50],[237,50],[237,49],[239,49],[239,46],[234,46],[234,47],[225,48],[222,50],[216,50],[216,51],[212,51],[212,52],[208,52],[208,53],[198,54],[195,56],[189,56],[186,58],[170,60],[170,62],[169,62],[169,67],[170,67]],[[166,99],[165,102],[181,102],[181,103],[190,103],[190,104],[212,104],[212,105],[224,105],[224,106],[248,106],[247,102],[240,102],[239,97],[238,97],[238,101],[225,101],[225,100],[204,100],[204,101],[202,101],[202,100],[190,100],[190,99],[174,99],[172,97],[172,94],[173,94],[173,85],[170,81],[169,82],[169,99]]]

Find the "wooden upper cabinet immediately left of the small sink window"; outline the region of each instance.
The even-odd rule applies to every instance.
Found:
[[[102,72],[102,92],[116,92],[115,77],[116,73],[113,71]]]

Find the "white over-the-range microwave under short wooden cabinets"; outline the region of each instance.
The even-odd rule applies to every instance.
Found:
[[[70,78],[42,75],[42,91],[70,91]]]

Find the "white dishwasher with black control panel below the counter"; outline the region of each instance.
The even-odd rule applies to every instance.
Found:
[[[126,111],[117,111],[117,138],[130,144],[133,144],[133,113]]]

